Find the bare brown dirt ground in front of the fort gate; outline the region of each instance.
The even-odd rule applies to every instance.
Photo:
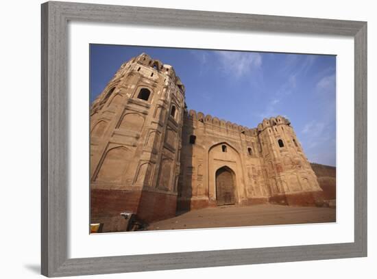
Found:
[[[336,209],[260,204],[250,207],[209,207],[189,211],[167,220],[151,223],[147,230],[309,224],[335,221]]]

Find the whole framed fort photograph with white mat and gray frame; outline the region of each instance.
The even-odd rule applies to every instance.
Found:
[[[365,22],[42,4],[42,274],[366,256],[366,79]]]

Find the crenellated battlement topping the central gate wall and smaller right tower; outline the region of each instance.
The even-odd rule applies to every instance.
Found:
[[[269,119],[263,119],[263,122],[258,124],[257,128],[249,128],[245,127],[236,123],[232,123],[227,120],[219,119],[217,117],[212,117],[210,114],[204,115],[201,111],[197,112],[194,109],[190,109],[187,114],[184,115],[187,119],[191,119],[193,121],[199,121],[204,124],[210,124],[212,126],[226,128],[230,131],[236,131],[239,133],[243,133],[245,135],[249,135],[250,137],[255,137],[261,131],[277,126],[277,125],[290,125],[291,122],[282,116],[271,117]]]

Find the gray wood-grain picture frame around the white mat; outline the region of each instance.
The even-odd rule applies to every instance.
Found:
[[[354,242],[100,258],[67,257],[67,23],[91,21],[237,31],[328,34],[354,38]],[[317,18],[169,10],[87,3],[42,4],[42,274],[250,265],[367,256],[367,23]]]

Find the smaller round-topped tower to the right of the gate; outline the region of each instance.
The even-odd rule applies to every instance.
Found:
[[[322,189],[287,118],[264,119],[258,138],[271,202],[315,205]]]

